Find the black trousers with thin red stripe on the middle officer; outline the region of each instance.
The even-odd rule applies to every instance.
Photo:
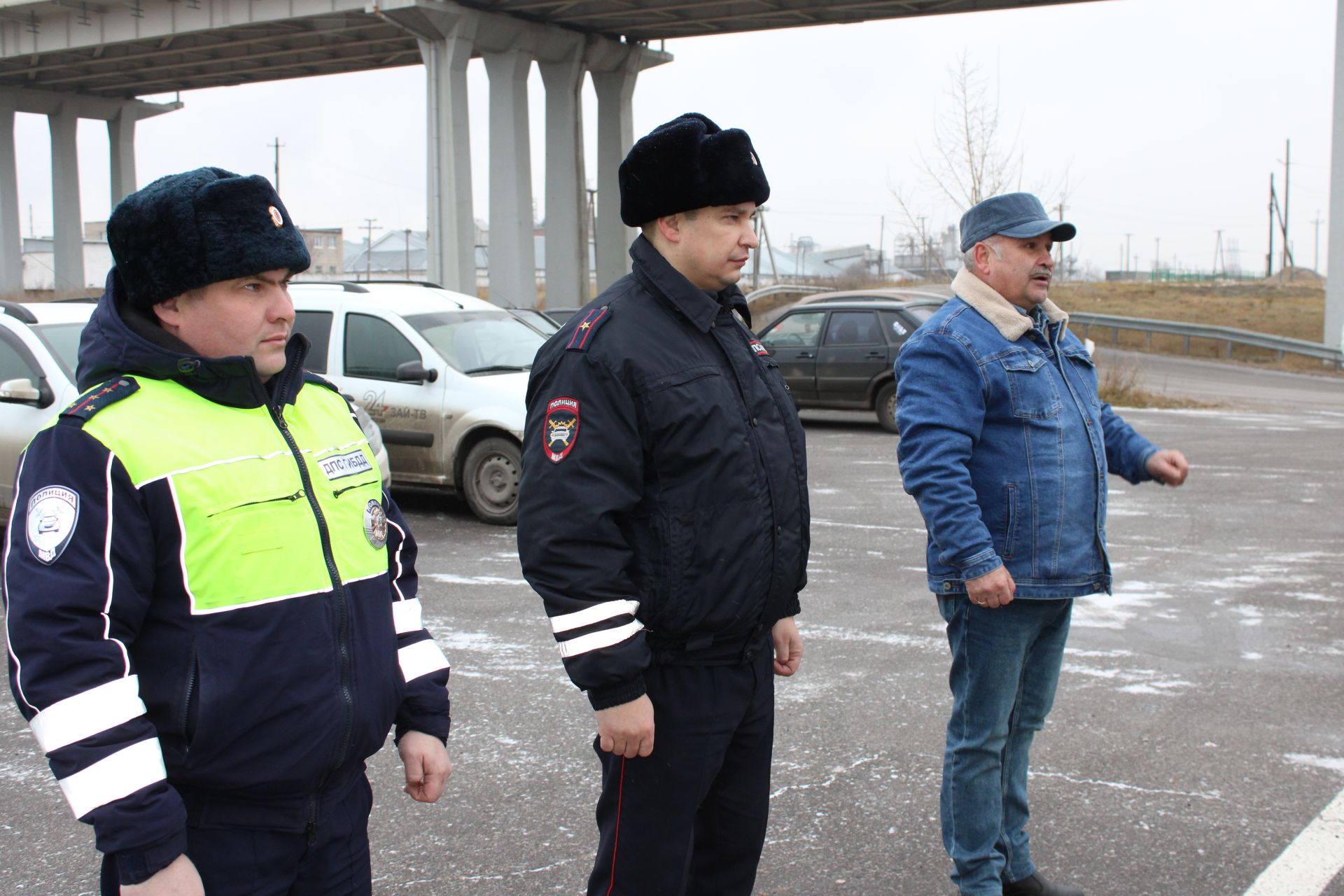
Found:
[[[653,752],[602,762],[589,896],[750,896],[770,809],[773,652],[656,664]]]

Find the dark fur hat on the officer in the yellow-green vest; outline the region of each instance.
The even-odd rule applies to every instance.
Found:
[[[312,263],[270,181],[223,168],[168,175],[130,193],[108,219],[108,244],[126,298],[144,310],[219,281]]]

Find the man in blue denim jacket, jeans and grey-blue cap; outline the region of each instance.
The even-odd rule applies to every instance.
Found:
[[[1073,598],[1110,591],[1106,473],[1176,486],[1189,470],[1098,399],[1087,349],[1047,298],[1051,249],[1075,232],[1030,193],[970,208],[956,297],[896,360],[900,474],[953,657],[941,810],[964,896],[1082,896],[1031,861],[1031,740]]]

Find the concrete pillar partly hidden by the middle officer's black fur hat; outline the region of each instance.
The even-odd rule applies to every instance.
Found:
[[[1344,0],[1340,0],[1344,3]],[[638,55],[630,52],[612,71],[594,71],[597,91],[597,287],[606,289],[630,270],[634,231],[621,223],[618,171],[634,144],[634,79]]]

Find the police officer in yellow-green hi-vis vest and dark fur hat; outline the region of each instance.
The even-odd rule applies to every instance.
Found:
[[[415,541],[349,406],[304,372],[309,265],[270,184],[163,177],[108,222],[85,394],[20,458],[9,684],[103,893],[368,893],[364,760],[452,772]]]

